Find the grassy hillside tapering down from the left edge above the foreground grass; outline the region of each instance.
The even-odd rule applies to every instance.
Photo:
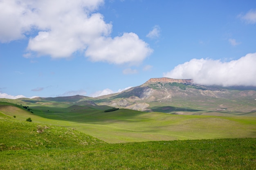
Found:
[[[62,148],[103,141],[74,128],[19,121],[0,113],[0,150]]]

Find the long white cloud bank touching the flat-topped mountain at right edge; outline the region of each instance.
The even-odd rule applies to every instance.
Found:
[[[164,73],[164,77],[193,79],[196,84],[204,85],[256,86],[255,65],[256,53],[249,53],[229,62],[192,59]]]

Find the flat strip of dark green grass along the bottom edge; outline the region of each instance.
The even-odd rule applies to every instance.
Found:
[[[256,169],[255,139],[155,141],[0,152],[0,169]]]

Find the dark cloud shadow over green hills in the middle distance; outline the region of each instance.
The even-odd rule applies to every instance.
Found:
[[[111,108],[108,106],[108,108]],[[129,109],[119,109],[112,112],[104,112],[106,109],[104,106],[95,108],[88,106],[78,106],[74,105],[68,108],[51,108],[47,110],[46,108],[40,106],[40,108],[34,107],[34,115],[44,117],[47,119],[73,121],[79,123],[97,123],[106,124],[115,121],[137,121],[133,119],[137,115],[147,114],[145,112]]]

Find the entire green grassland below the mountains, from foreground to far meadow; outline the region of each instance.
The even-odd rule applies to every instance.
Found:
[[[254,114],[15,102],[0,102],[1,170],[256,169]]]

